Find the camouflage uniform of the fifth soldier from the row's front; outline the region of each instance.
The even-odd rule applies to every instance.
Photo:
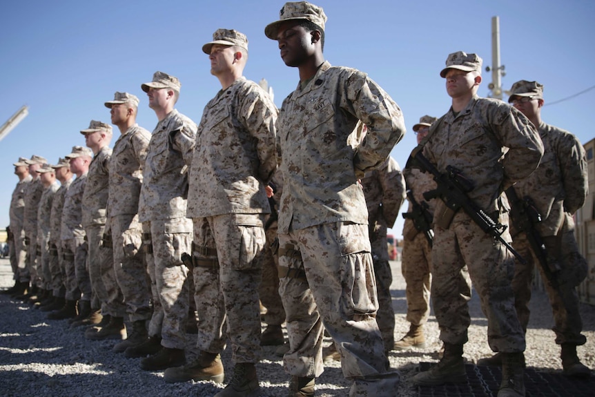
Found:
[[[91,126],[93,126],[91,122]],[[92,130],[90,126],[89,130]],[[100,127],[97,127],[100,128]],[[111,244],[103,244],[106,230],[109,163],[112,149],[104,146],[95,153],[89,164],[83,194],[83,219],[88,244],[87,269],[93,292],[101,302],[101,314],[124,317],[124,297],[116,281]]]

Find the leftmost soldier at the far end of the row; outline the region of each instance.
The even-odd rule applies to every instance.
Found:
[[[29,166],[25,162],[25,157],[19,157],[19,161],[14,165],[14,174],[19,177],[17,186],[12,191],[10,199],[10,232],[12,233],[12,240],[10,240],[10,267],[14,277],[14,286],[6,290],[6,293],[11,295],[21,295],[25,292],[28,279],[21,280],[20,272],[26,266],[27,247],[25,245],[25,229],[23,228],[25,216],[25,191],[27,184],[33,180],[29,173]]]

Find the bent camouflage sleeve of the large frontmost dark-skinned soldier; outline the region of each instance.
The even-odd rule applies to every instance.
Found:
[[[353,165],[365,173],[389,157],[405,134],[401,109],[372,79],[356,71],[347,81],[348,111],[367,125],[368,132],[358,146]]]

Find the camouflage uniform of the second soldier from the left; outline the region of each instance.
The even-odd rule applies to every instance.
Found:
[[[28,164],[31,164],[29,161]],[[21,272],[21,281],[30,280],[33,286],[37,285],[37,280],[41,277],[37,269],[37,253],[39,252],[39,246],[37,246],[37,209],[39,209],[39,200],[41,200],[41,193],[43,193],[43,184],[39,180],[39,174],[32,176],[33,180],[25,190],[23,229],[25,229],[26,236],[27,259],[26,269]],[[41,255],[39,256],[41,257]],[[41,273],[41,268],[39,268],[39,273]]]

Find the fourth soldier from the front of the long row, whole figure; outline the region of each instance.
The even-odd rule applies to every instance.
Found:
[[[112,124],[120,130],[109,164],[108,229],[113,242],[115,275],[124,296],[126,314],[132,325],[128,338],[119,342],[114,351],[140,345],[148,339],[146,322],[150,320],[150,280],[141,250],[142,225],[138,220],[142,168],[147,155],[150,133],[136,123],[139,99],[129,93],[115,93],[114,100],[105,103],[110,109]],[[116,321],[117,320],[117,321]],[[109,336],[123,327],[120,319],[97,336]]]

